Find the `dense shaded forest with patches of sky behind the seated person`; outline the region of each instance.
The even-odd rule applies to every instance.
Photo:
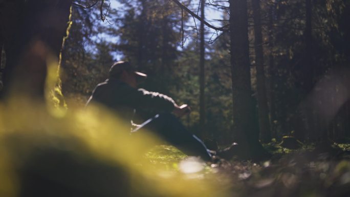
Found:
[[[84,105],[95,85],[107,78],[111,64],[129,60],[148,74],[143,84],[147,90],[168,94],[192,107],[183,122],[196,135],[219,144],[234,140],[232,87],[239,84],[231,80],[229,31],[206,27],[203,32],[205,115],[201,117],[200,21],[171,1],[119,3],[118,10],[105,3],[104,23],[98,7],[73,7],[73,25],[61,64],[68,106],[72,102]],[[254,3],[248,1],[247,7],[250,102],[255,106],[255,116],[248,121],[259,127],[260,140],[279,141],[289,135],[308,142],[347,140],[349,2],[273,0],[260,1],[258,9]],[[198,1],[183,4],[200,15]],[[221,13],[215,25],[229,26],[227,2],[207,1],[205,6]],[[260,14],[254,15],[254,9],[260,9]]]

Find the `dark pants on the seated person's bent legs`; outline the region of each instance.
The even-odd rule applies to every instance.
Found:
[[[205,161],[211,160],[211,154],[202,140],[191,134],[179,119],[172,114],[157,114],[132,132],[146,132],[145,130],[155,133],[163,140],[179,148],[186,155],[200,156]]]

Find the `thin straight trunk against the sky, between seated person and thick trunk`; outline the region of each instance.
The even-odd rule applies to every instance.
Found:
[[[200,43],[200,132],[206,135],[205,130],[205,97],[204,97],[204,87],[205,87],[205,75],[204,75],[204,6],[205,0],[201,0],[201,43]]]

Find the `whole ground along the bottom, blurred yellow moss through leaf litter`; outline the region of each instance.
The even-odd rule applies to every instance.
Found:
[[[350,195],[344,144],[326,154],[269,144],[271,161],[206,164],[130,138],[116,120],[101,107],[57,117],[25,100],[0,104],[0,196]]]

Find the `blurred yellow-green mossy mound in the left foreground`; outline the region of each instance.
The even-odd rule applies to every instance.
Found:
[[[217,183],[203,180],[203,174],[201,178],[189,179],[186,176],[186,173],[204,169],[203,163],[198,159],[189,158],[180,162],[179,171],[157,169],[151,162],[142,162],[143,155],[158,140],[146,134],[130,136],[128,124],[118,121],[114,114],[101,106],[74,108],[68,110],[64,116],[54,116],[40,103],[13,99],[0,105],[0,128],[0,171],[4,172],[0,175],[0,181],[6,183],[0,187],[1,196],[17,196],[21,188],[28,187],[24,185],[27,182],[23,181],[26,170],[33,170],[31,173],[34,177],[25,178],[33,179],[31,186],[37,188],[40,185],[35,185],[35,181],[38,181],[35,173],[48,180],[56,180],[58,184],[64,182],[68,188],[81,190],[80,192],[85,192],[85,189],[90,191],[105,188],[102,193],[110,192],[111,196],[114,190],[125,192],[125,196],[144,193],[151,196],[229,195],[227,191],[220,195],[214,194],[217,192]],[[67,159],[64,155],[74,159]],[[57,166],[52,166],[52,161],[55,160],[58,162]],[[34,167],[31,162],[34,162]],[[89,165],[95,167],[90,168]],[[108,167],[111,177],[115,176],[114,170],[122,171],[123,176],[114,179],[125,182],[127,188],[120,188],[121,185],[102,187],[99,182],[106,175],[103,173],[84,180],[69,172],[80,171],[88,176],[105,166],[111,168]],[[84,169],[86,171],[81,171]],[[69,181],[71,179],[78,179],[83,185],[96,184],[96,188],[84,188]],[[113,186],[113,183],[110,184]]]

